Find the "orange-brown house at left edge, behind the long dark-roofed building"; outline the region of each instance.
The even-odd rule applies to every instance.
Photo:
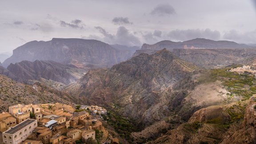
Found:
[[[17,124],[16,118],[12,117],[8,112],[0,113],[0,132],[6,131],[8,128]]]

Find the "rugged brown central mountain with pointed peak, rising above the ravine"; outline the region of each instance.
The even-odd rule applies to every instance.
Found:
[[[166,49],[141,54],[111,69],[89,71],[66,91],[91,103],[116,105],[124,116],[152,124],[170,114],[188,89],[196,66],[180,60]]]

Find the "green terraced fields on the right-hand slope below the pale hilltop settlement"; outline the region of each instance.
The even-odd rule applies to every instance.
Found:
[[[237,96],[243,97],[244,100],[247,100],[253,94],[256,94],[256,78],[251,73],[238,74],[228,71],[236,67],[237,66],[213,69],[211,70],[210,79],[222,81],[223,85],[231,92],[229,96],[232,97],[233,94],[236,94]]]

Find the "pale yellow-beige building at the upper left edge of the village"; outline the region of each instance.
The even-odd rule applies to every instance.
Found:
[[[9,113],[14,116],[15,113],[22,113],[22,112],[32,112],[32,104],[24,105],[24,104],[18,104],[9,107]]]

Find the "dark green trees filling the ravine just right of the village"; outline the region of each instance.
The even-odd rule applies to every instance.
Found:
[[[132,143],[132,138],[130,137],[131,132],[139,131],[132,122],[125,119],[124,117],[117,116],[113,112],[107,113],[107,115],[101,115],[105,121],[111,125],[115,131],[129,143]]]

